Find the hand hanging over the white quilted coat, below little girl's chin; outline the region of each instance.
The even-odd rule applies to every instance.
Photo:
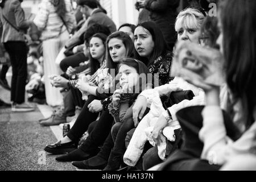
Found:
[[[146,109],[147,109],[147,98],[144,96],[138,96],[133,106],[133,122],[135,127],[137,127],[139,124],[138,118],[142,119]]]

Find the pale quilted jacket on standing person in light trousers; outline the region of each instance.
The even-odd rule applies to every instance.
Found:
[[[64,0],[67,13],[65,14],[64,21],[55,12],[55,7],[52,5],[51,0],[42,0],[39,5],[39,11],[35,16],[34,23],[40,30],[42,30],[42,40],[57,38],[61,32],[67,30],[71,32],[72,28],[76,26],[75,14],[71,2]]]

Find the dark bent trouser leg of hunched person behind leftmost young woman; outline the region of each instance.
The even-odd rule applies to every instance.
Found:
[[[79,52],[75,55],[68,56],[60,62],[60,68],[63,72],[66,72],[68,67],[71,66],[73,68],[78,67],[80,63],[84,62],[86,57],[84,53]]]

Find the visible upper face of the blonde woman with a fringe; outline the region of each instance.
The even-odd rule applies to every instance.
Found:
[[[196,26],[195,26],[196,27]],[[201,32],[199,29],[190,28],[182,24],[177,25],[177,40],[190,41],[199,44],[199,36]]]

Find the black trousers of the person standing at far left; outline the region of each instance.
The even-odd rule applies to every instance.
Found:
[[[27,80],[27,45],[25,42],[4,43],[10,55],[13,76],[11,77],[11,101],[22,104],[25,101]]]

